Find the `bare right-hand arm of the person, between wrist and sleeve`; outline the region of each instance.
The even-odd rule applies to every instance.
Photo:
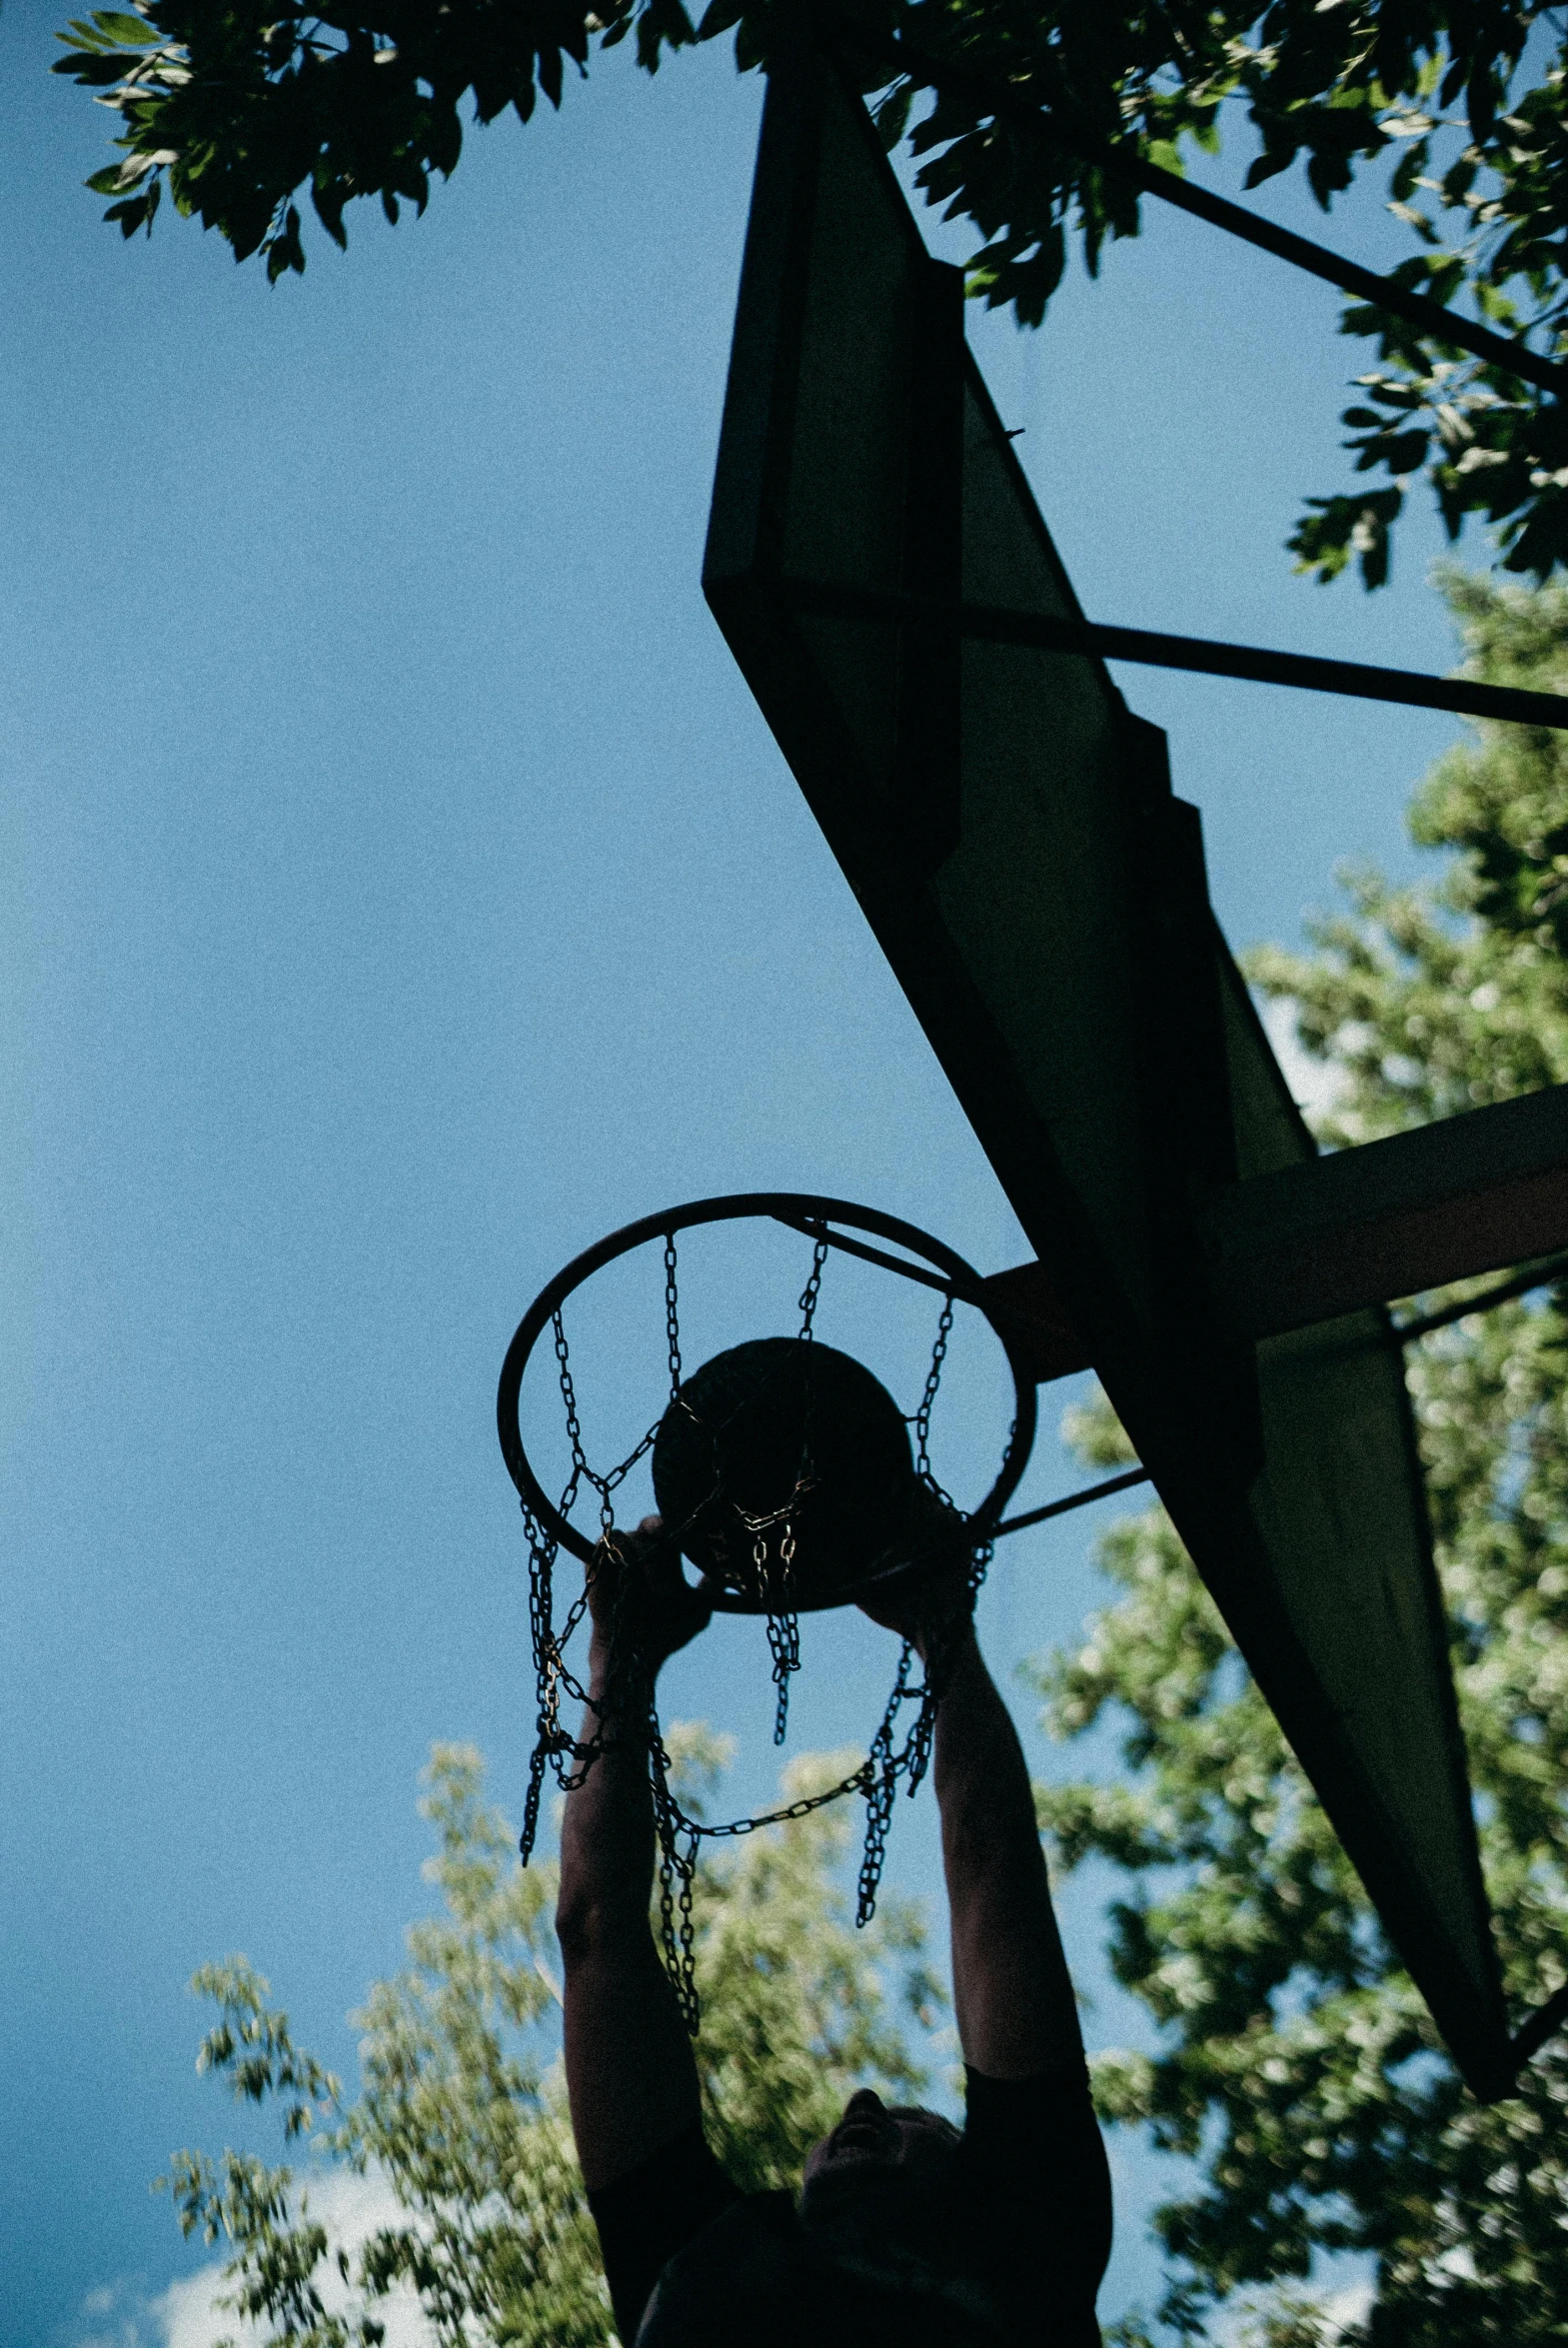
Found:
[[[1028,1766],[972,1630],[937,1709],[934,1784],[965,2062],[1030,2078],[1082,2059]]]

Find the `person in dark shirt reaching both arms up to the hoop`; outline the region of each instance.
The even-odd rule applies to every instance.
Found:
[[[650,1517],[620,1536],[589,1580],[594,1700],[615,1576],[636,1578],[650,1676],[709,1620],[660,1531]],[[1110,2174],[1028,1768],[979,1651],[967,1557],[861,1604],[927,1669],[927,1651],[941,1655],[932,1777],[965,2127],[861,2087],[812,2146],[798,2202],[739,2193],[704,2139],[650,1930],[653,1799],[627,1712],[627,1735],[566,1796],[556,1904],[570,2123],[627,2348],[1099,2343]]]

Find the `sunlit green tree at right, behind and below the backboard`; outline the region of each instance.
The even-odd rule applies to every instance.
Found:
[[[1561,589],[1446,585],[1476,674],[1563,674]],[[1340,1075],[1336,1139],[1568,1078],[1566,822],[1559,740],[1481,728],[1415,798],[1415,836],[1451,852],[1437,890],[1359,873],[1317,951],[1253,958]],[[1566,1348],[1559,1289],[1411,1362],[1514,2012],[1568,1970]],[[1075,1432],[1115,1453],[1108,1411]],[[1164,2325],[1202,2334],[1242,2294],[1270,2348],[1561,2341],[1568,2052],[1547,2047],[1491,2109],[1460,2087],[1164,1514],[1120,1524],[1101,1561],[1120,1597],[1040,1684],[1056,1735],[1122,1723],[1127,1777],[1040,1808],[1068,1864],[1124,1871],[1110,1961],[1157,2024],[1155,2054],[1101,2059],[1101,2109],[1197,2163],[1157,2219]],[[1314,2252],[1371,2254],[1366,2320],[1336,2325],[1300,2289]]]

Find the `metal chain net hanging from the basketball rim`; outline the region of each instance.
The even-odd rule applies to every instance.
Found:
[[[807,1282],[800,1291],[800,1329],[798,1341],[803,1345],[812,1343],[817,1298],[822,1294],[822,1270],[826,1263],[829,1247],[824,1240],[815,1242],[812,1268]],[[674,1233],[664,1237],[664,1329],[669,1348],[669,1399],[676,1402],[681,1395],[681,1298],[676,1282],[676,1242]],[[930,1463],[930,1430],[932,1430],[932,1406],[941,1388],[941,1369],[946,1362],[948,1336],[953,1329],[953,1298],[946,1296],[941,1305],[941,1320],[937,1324],[937,1341],[932,1345],[932,1359],[925,1374],[925,1390],[920,1395],[920,1406],[908,1421],[915,1435],[915,1475],[925,1489],[960,1517],[953,1500],[941,1489],[932,1475]],[[878,1888],[883,1881],[883,1862],[887,1855],[887,1829],[892,1822],[892,1806],[899,1792],[899,1782],[908,1796],[920,1789],[920,1782],[930,1768],[932,1738],[937,1730],[937,1705],[941,1700],[941,1688],[948,1669],[948,1641],[930,1639],[930,1653],[925,1658],[925,1669],[918,1681],[911,1684],[918,1651],[904,1639],[899,1653],[899,1667],[894,1672],[892,1693],[887,1707],[878,1723],[876,1735],[866,1759],[838,1784],[824,1787],[817,1794],[803,1794],[798,1801],[789,1801],[777,1810],[761,1810],[756,1817],[732,1817],[723,1824],[709,1824],[707,1820],[692,1817],[671,1782],[671,1759],[664,1747],[664,1733],[660,1728],[660,1712],[653,1695],[655,1665],[643,1651],[643,1632],[638,1625],[638,1606],[631,1597],[634,1578],[629,1573],[615,1571],[624,1564],[622,1538],[615,1529],[615,1493],[627,1482],[631,1470],[648,1456],[653,1442],[660,1432],[660,1418],[648,1428],[648,1432],[636,1442],[636,1446],[608,1472],[596,1472],[582,1446],[582,1423],[577,1413],[577,1395],[573,1385],[570,1348],[566,1343],[566,1329],[561,1315],[554,1315],[554,1355],[556,1355],[556,1378],[561,1385],[561,1404],[566,1411],[566,1437],[570,1444],[570,1472],[561,1491],[561,1514],[570,1517],[573,1507],[584,1493],[594,1493],[599,1503],[599,1545],[594,1561],[587,1568],[584,1585],[577,1597],[566,1608],[561,1622],[556,1622],[556,1561],[559,1540],[547,1533],[540,1519],[533,1514],[523,1500],[523,1531],[528,1536],[528,1630],[533,1639],[533,1665],[538,1684],[538,1716],[535,1716],[535,1745],[528,1763],[528,1792],[523,1799],[523,1831],[519,1836],[519,1853],[523,1867],[533,1855],[533,1846],[540,1829],[540,1799],[545,1792],[545,1775],[549,1773],[561,1789],[561,1794],[575,1792],[584,1784],[594,1763],[617,1745],[634,1742],[648,1756],[648,1784],[653,1794],[653,1824],[657,1838],[657,1890],[660,1890],[660,1942],[664,1954],[664,1970],[669,1972],[676,2003],[681,2008],[681,2019],[690,2036],[697,2033],[699,2003],[697,2003],[697,1977],[695,1977],[695,1921],[692,1921],[692,1888],[697,1878],[697,1855],[704,1841],[735,1841],[744,1834],[756,1834],[761,1827],[784,1827],[798,1817],[807,1817],[812,1810],[824,1808],[829,1801],[843,1801],[845,1794],[859,1794],[866,1803],[866,1836],[859,1862],[857,1881],[857,1904],[854,1923],[864,1928],[876,1914]],[[805,1468],[803,1468],[805,1477]],[[772,1655],[772,1684],[775,1684],[775,1745],[784,1742],[789,1723],[789,1681],[800,1669],[800,1622],[796,1608],[791,1606],[791,1561],[793,1561],[793,1529],[791,1510],[803,1491],[803,1479],[796,1482],[789,1500],[765,1517],[746,1517],[744,1524],[753,1533],[753,1564],[761,1573],[761,1590],[765,1597],[765,1622],[768,1622],[768,1648]],[[765,1533],[782,1526],[777,1557],[768,1557]],[[986,1578],[991,1564],[991,1543],[974,1550],[967,1568],[967,1604]],[[566,1648],[582,1625],[589,1611],[589,1592],[601,1573],[610,1576],[610,1601],[608,1601],[608,1637],[606,1637],[606,1667],[601,1674],[599,1693],[582,1684],[566,1660]],[[958,1620],[967,1618],[967,1608]],[[582,1707],[582,1728],[573,1735],[561,1721],[563,1702]],[[904,1714],[913,1712],[913,1719],[904,1721]]]

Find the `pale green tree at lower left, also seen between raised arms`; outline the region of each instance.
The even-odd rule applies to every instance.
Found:
[[[669,1747],[695,1806],[728,1749],[692,1726],[674,1726]],[[784,1782],[793,1799],[843,1773],[843,1756],[807,1756]],[[599,2240],[552,2059],[554,1869],[516,1867],[469,1747],[434,1749],[423,1810],[444,1907],[411,1928],[406,1970],[357,2015],[354,2104],[293,2045],[244,1958],[192,1982],[218,2005],[197,2069],[228,2076],[242,2101],[279,2104],[284,2141],[315,2132],[326,2160],[380,2174],[404,2217],[350,2252],[312,2214],[310,2181],[251,2153],[176,2153],[160,2181],[188,2235],[230,2245],[225,2306],[265,2327],[265,2348],[378,2348],[399,2287],[446,2348],[606,2348]],[[716,2148],[746,2191],[796,2184],[864,2080],[922,2087],[901,2029],[939,2012],[920,1918],[885,1902],[871,1930],[852,1930],[836,1890],[847,1836],[843,1810],[817,1810],[730,1846],[697,1878],[697,2069]]]

